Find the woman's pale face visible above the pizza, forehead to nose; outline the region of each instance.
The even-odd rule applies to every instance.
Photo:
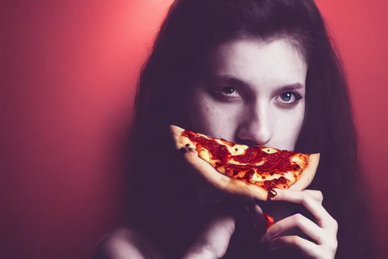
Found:
[[[286,40],[220,45],[189,93],[192,130],[249,146],[294,150],[305,114],[307,65]]]

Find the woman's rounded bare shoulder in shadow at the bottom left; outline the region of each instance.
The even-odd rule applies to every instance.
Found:
[[[94,250],[92,259],[159,259],[154,245],[143,234],[120,227],[108,233]]]

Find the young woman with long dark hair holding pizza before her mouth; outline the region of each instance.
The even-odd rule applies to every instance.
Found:
[[[267,202],[214,190],[169,125],[320,153],[308,190]],[[104,258],[373,258],[347,81],[313,0],[177,0],[135,100],[128,224]],[[266,232],[262,212],[276,223]]]

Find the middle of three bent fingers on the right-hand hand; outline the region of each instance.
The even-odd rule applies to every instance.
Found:
[[[316,240],[318,244],[321,244],[323,229],[299,213],[276,222],[267,230],[260,242],[266,243],[274,237],[279,237],[282,232],[296,227],[301,229],[312,239]]]

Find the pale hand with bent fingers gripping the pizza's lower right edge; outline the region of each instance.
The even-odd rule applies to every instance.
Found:
[[[317,224],[301,214],[295,214],[272,225],[260,240],[268,244],[270,250],[283,246],[293,246],[301,250],[307,258],[332,259],[337,249],[337,222],[322,206],[320,191],[290,191],[273,189],[271,200],[281,200],[303,204],[315,217]],[[283,231],[298,227],[317,244],[299,236],[279,237]]]

